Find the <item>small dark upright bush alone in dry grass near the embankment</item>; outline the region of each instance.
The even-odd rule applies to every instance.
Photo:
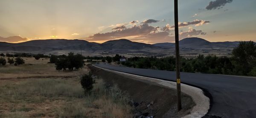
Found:
[[[89,73],[89,75],[82,76],[80,83],[82,88],[84,89],[84,93],[86,93],[93,89],[93,84],[95,83],[95,80],[93,80],[91,74]]]

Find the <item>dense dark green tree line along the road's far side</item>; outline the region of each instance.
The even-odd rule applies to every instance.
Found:
[[[256,43],[240,42],[233,49],[232,57],[199,55],[197,58],[180,57],[181,72],[256,76]],[[175,58],[133,57],[123,65],[143,69],[175,71]]]

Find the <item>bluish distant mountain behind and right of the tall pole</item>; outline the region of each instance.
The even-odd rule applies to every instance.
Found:
[[[184,38],[179,41],[181,49],[218,49],[218,48],[234,48],[239,44],[239,41],[234,42],[209,42],[198,37]],[[162,49],[175,48],[175,43],[155,43],[154,46],[158,46]]]

